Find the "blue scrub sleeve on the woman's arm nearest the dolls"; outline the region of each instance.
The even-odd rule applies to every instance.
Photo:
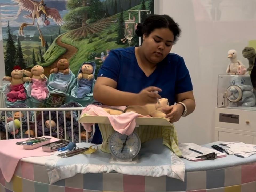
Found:
[[[99,69],[98,77],[108,77],[118,81],[120,71],[120,55],[118,51],[111,50],[106,60]]]

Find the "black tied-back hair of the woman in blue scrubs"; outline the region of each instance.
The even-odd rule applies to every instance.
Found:
[[[142,37],[143,34],[150,35],[152,31],[159,28],[168,28],[174,35],[174,43],[177,42],[178,37],[181,33],[179,24],[176,23],[173,18],[168,15],[150,15],[144,21],[144,23],[138,23],[136,34]]]

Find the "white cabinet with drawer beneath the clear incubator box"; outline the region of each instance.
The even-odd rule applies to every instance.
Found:
[[[215,141],[241,141],[256,144],[256,108],[215,110]]]

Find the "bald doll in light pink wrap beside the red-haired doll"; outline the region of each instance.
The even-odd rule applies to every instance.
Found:
[[[32,78],[32,90],[31,97],[34,97],[38,101],[43,101],[46,99],[49,90],[46,87],[47,78],[43,74],[45,70],[40,65],[35,65],[32,67],[31,72],[24,71],[24,74]]]

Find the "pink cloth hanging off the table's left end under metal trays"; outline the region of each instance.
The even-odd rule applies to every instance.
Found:
[[[50,137],[50,136],[47,136]],[[50,137],[51,142],[59,139]],[[42,147],[33,150],[23,149],[22,145],[16,145],[16,142],[25,141],[27,139],[9,139],[0,141],[0,169],[3,177],[7,182],[11,181],[16,166],[20,159],[25,157],[50,156],[52,153],[42,151]]]

